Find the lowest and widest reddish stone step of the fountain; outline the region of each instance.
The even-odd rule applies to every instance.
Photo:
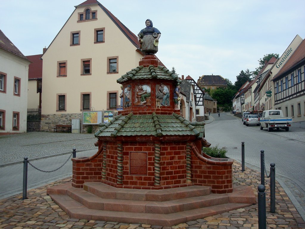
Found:
[[[226,203],[205,208],[192,209],[170,214],[119,212],[88,209],[66,195],[50,194],[50,197],[72,218],[87,220],[116,221],[122,223],[141,223],[150,225],[173,226],[190,220],[205,218],[233,209],[244,208],[251,204]]]

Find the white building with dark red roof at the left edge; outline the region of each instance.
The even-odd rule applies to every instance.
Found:
[[[0,30],[0,135],[27,131],[29,64]]]

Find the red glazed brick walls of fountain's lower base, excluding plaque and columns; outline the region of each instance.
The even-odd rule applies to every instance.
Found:
[[[106,159],[106,184],[117,184],[117,142],[108,141]],[[210,160],[199,153],[195,143],[191,143],[192,184],[212,187],[213,193],[230,193],[233,190],[233,160]],[[182,187],[186,185],[186,141],[167,141],[160,148],[160,186]],[[147,176],[129,175],[130,152],[147,152]],[[152,142],[123,142],[123,186],[126,188],[154,187],[154,154]],[[102,181],[103,147],[90,158],[73,158],[72,186],[82,187],[84,182]],[[182,186],[181,186],[182,185]],[[166,188],[166,187],[165,187]]]

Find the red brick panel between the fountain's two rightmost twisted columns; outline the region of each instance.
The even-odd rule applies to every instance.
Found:
[[[185,184],[186,142],[163,142],[160,156],[160,185]]]

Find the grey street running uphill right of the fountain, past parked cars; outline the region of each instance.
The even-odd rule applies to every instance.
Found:
[[[241,162],[241,142],[245,142],[245,165],[260,171],[260,151],[264,150],[267,175],[275,163],[276,180],[282,185],[299,213],[305,218],[305,129],[260,130],[243,125],[229,113],[211,114],[213,122],[205,126],[205,138],[212,146],[226,147],[227,157]]]

